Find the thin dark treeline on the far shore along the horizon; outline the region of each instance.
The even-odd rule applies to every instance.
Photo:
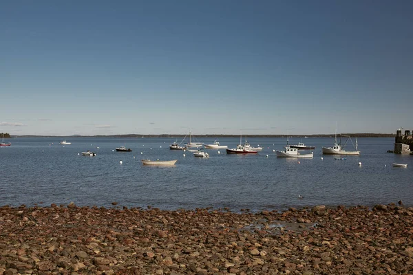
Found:
[[[351,137],[395,137],[394,133],[342,133],[337,134],[337,137],[340,135],[350,135]],[[247,137],[287,137],[287,135],[246,135]],[[6,133],[4,134],[6,137]],[[10,135],[9,135],[10,137]],[[125,134],[125,135],[16,135],[16,137],[185,137],[182,134],[161,134],[161,135],[142,135],[142,134]],[[202,137],[240,137],[240,135],[219,135],[219,134],[208,134],[208,135],[196,135],[197,138]],[[316,134],[316,135],[288,135],[288,137],[334,137],[334,134]]]

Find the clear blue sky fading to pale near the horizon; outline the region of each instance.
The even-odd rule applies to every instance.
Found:
[[[413,1],[2,1],[0,132],[413,130]]]

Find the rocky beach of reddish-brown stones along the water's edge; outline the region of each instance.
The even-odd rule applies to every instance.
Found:
[[[3,274],[412,274],[403,203],[233,212],[0,208]]]

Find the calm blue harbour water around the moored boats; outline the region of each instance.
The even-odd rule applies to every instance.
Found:
[[[400,199],[405,206],[413,205],[413,156],[386,153],[394,138],[359,138],[361,155],[346,160],[321,155],[321,146],[331,146],[332,138],[302,140],[317,147],[313,159],[277,158],[273,149],[283,148],[282,138],[249,138],[251,144],[264,147],[258,155],[226,155],[224,149],[218,154],[211,149],[206,150],[209,159],[169,150],[175,141],[171,138],[76,137],[67,138],[72,144],[65,146],[61,140],[15,138],[12,146],[0,148],[0,206],[74,201],[78,206],[109,207],[117,201],[119,206],[170,210],[208,206],[282,210],[317,204],[374,206]],[[200,141],[208,144],[214,139]],[[229,148],[239,141],[220,139]],[[298,142],[290,139],[290,144]],[[123,145],[133,152],[113,151]],[[78,155],[88,149],[96,157]],[[173,167],[150,167],[142,166],[142,158],[178,162]],[[408,166],[394,168],[393,162]]]

